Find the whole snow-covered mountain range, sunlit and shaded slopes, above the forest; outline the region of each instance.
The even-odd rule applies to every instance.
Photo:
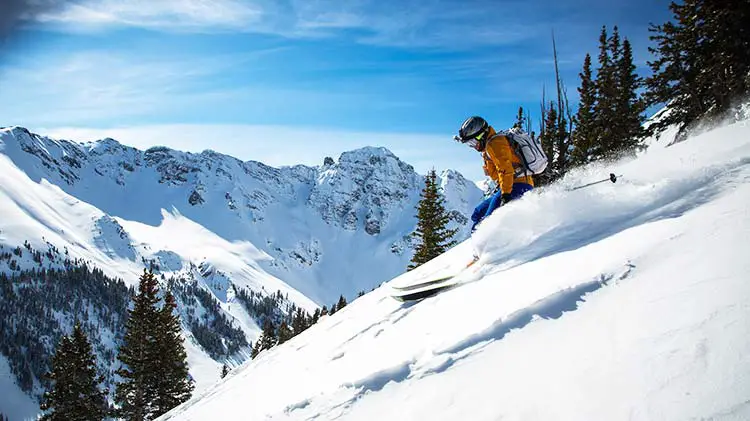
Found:
[[[467,215],[481,192],[453,171],[441,179],[466,238]],[[141,151],[113,139],[82,144],[0,129],[0,273],[86,265],[102,270],[114,288],[106,294],[117,295],[154,267],[163,282],[177,285],[191,374],[201,390],[218,379],[223,361],[246,359],[243,341],[259,334],[258,315],[238,294],[274,300],[279,311],[312,313],[402,273],[423,180],[384,148],[344,152],[319,167],[273,168],[213,151]],[[16,295],[38,294],[13,288]],[[79,299],[75,305],[88,306],[98,297]],[[45,336],[32,345],[47,352],[72,322],[64,306],[54,311],[59,326],[50,328],[51,338],[26,326],[30,337]],[[111,325],[111,335],[95,344],[102,367],[111,369],[122,314],[106,311],[115,316],[92,316],[90,328]],[[9,363],[17,377],[28,368],[18,358]],[[32,380],[25,382],[39,392]],[[33,414],[34,403],[14,407],[0,412]]]

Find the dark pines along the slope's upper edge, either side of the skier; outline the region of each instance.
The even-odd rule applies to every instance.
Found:
[[[647,77],[638,75],[632,44],[618,27],[601,28],[596,65],[587,53],[578,75],[576,110],[560,77],[552,35],[554,96],[548,100],[542,92],[539,132],[523,107],[513,124],[538,137],[549,159],[535,184],[552,183],[591,162],[632,156],[645,148],[647,136],[658,137],[668,127],[677,128],[679,142],[704,127],[747,117],[742,105],[750,91],[750,2],[684,0],[669,9],[670,21],[649,27],[655,59],[647,62]],[[644,124],[649,107],[665,105],[664,113]],[[416,217],[417,244],[407,270],[455,244],[434,170],[425,178]]]

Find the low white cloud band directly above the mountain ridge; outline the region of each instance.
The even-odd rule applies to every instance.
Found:
[[[31,129],[53,138],[78,142],[111,137],[139,149],[157,145],[191,152],[211,149],[241,160],[255,160],[276,167],[320,165],[326,156],[337,159],[344,151],[364,146],[384,146],[421,174],[434,167],[438,171],[455,169],[471,179],[483,177],[481,159],[477,153],[457,144],[450,133],[373,133],[245,124]]]

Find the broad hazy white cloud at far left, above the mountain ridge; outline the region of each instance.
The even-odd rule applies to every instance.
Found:
[[[276,50],[211,56],[58,52],[3,69],[6,123],[92,124],[195,109],[251,95],[246,87],[206,87],[206,80]],[[201,88],[203,87],[203,88]]]

